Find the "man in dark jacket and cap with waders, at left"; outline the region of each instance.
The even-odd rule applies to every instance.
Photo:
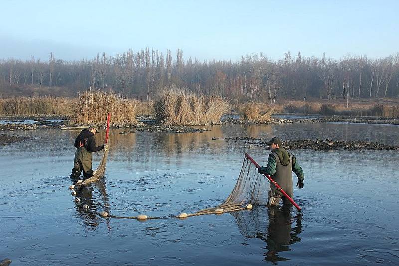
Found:
[[[75,140],[75,159],[73,160],[72,177],[79,178],[83,171],[85,178],[92,177],[94,171],[92,169],[92,152],[107,149],[107,145],[96,146],[94,134],[98,133],[97,126],[90,126],[88,129],[83,129]]]

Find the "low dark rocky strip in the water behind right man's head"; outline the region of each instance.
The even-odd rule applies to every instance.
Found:
[[[268,147],[267,140],[255,139],[252,137],[225,138],[226,140],[241,141],[250,146]],[[361,140],[331,140],[331,139],[304,139],[304,140],[285,140],[282,147],[287,150],[312,149],[312,150],[399,150],[398,146],[386,145],[378,142],[368,142]]]

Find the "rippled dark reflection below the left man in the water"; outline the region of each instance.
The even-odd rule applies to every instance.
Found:
[[[72,183],[76,184],[78,179],[71,177]],[[100,197],[96,197],[96,200],[100,199],[102,202],[96,202],[93,200],[93,193],[95,193],[94,187],[96,187],[99,191]],[[104,207],[101,209],[108,210],[108,195],[105,188],[105,181],[104,179],[100,179],[90,186],[81,186],[75,188],[76,197],[80,199],[80,202],[75,203],[75,209],[78,217],[80,217],[84,224],[89,229],[96,229],[99,225],[99,217],[96,215],[98,213],[97,209],[103,205]],[[83,205],[87,204],[89,206],[88,210],[83,209]]]

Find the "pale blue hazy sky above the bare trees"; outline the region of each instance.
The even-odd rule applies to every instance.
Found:
[[[0,58],[91,59],[145,47],[185,59],[384,57],[399,52],[398,0],[1,0]]]

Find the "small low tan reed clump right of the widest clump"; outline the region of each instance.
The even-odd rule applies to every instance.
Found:
[[[244,104],[240,110],[241,119],[245,121],[271,122],[275,107],[259,103]]]

